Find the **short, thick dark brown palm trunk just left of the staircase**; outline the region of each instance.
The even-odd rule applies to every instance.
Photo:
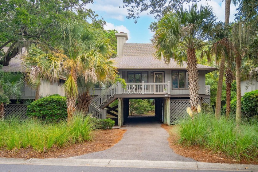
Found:
[[[89,91],[82,92],[78,95],[78,110],[88,113],[89,104],[91,103],[92,97]]]

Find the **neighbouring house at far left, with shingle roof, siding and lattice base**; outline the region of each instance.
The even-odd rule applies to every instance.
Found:
[[[9,47],[4,47],[4,52],[7,52]],[[25,68],[22,66],[22,58],[24,57],[26,51],[22,48],[22,52],[17,54],[14,58],[10,60],[8,66],[4,66],[2,70],[4,72],[25,72]],[[59,94],[65,96],[65,91],[62,85],[65,83],[64,80],[59,80],[58,83],[50,83],[47,80],[41,81],[40,93],[41,97],[45,97],[52,94]],[[28,85],[24,84],[22,87],[21,101],[35,99],[35,90],[30,88]],[[24,104],[14,104],[16,97],[10,97],[10,104],[7,104],[5,110],[6,115],[20,114],[21,117],[25,117],[27,106]]]

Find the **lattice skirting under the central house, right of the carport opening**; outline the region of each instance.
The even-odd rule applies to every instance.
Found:
[[[203,103],[210,104],[210,98],[204,98]],[[191,107],[189,99],[170,100],[170,124],[175,124],[179,119],[185,118],[188,114],[186,109]]]

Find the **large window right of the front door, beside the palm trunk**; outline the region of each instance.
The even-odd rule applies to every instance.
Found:
[[[185,71],[172,71],[172,88],[188,88],[187,77]]]

